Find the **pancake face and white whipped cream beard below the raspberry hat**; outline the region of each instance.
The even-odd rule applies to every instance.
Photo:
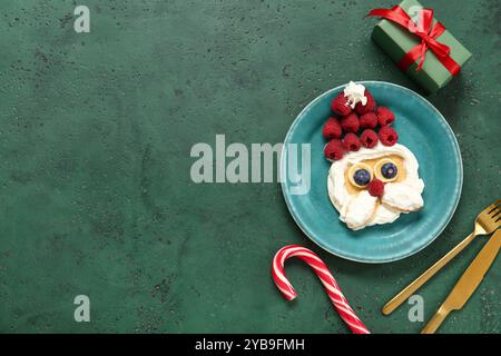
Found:
[[[385,181],[382,197],[373,197],[366,188],[351,182],[348,172],[352,167],[365,167],[371,174],[377,171],[385,162],[392,162],[397,171],[391,181]],[[419,164],[415,156],[403,145],[361,148],[346,154],[341,160],[334,161],[327,177],[328,197],[340,212],[340,220],[353,230],[366,226],[387,224],[396,220],[400,215],[419,210],[423,207],[422,192],[424,182],[418,174]],[[387,169],[387,168],[386,168]]]

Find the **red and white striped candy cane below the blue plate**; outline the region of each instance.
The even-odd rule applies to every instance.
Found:
[[[341,318],[344,320],[344,323],[347,324],[353,333],[370,334],[365,325],[361,319],[358,319],[353,309],[350,307],[346,298],[341,293],[341,289],[337,286],[337,283],[332,276],[327,266],[323,263],[322,259],[320,259],[318,256],[315,255],[315,253],[298,245],[289,245],[281,248],[273,258],[273,280],[284,295],[285,299],[293,300],[297,296],[293,286],[284,275],[284,263],[289,257],[301,258],[315,270]]]

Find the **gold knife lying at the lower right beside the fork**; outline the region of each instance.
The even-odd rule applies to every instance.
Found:
[[[479,287],[483,276],[485,276],[489,270],[489,267],[491,267],[495,256],[498,256],[500,247],[501,229],[492,235],[479,255],[477,255],[475,259],[473,259],[471,265],[466,268],[445,301],[440,306],[439,310],[436,310],[435,315],[431,318],[421,334],[435,333],[443,320],[445,320],[449,313],[459,310],[466,304],[473,291]]]

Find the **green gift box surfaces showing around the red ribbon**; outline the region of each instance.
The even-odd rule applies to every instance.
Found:
[[[423,10],[423,7],[416,0],[404,0],[399,7],[409,14],[414,23],[418,22]],[[432,27],[436,23],[438,20],[433,18]],[[422,39],[407,28],[386,19],[382,19],[375,24],[372,39],[396,63],[401,62],[406,53],[422,42]],[[434,40],[450,48],[450,59],[455,61],[461,68],[472,56],[446,29]],[[421,70],[416,70],[420,60],[416,59],[404,70],[407,76],[430,93],[445,86],[454,77],[451,70],[439,60],[435,52],[430,48],[426,50]]]

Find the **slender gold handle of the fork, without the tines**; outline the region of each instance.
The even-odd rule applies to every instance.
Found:
[[[394,296],[383,307],[383,314],[389,315],[395,310],[402,303],[409,299],[419,288],[421,288],[430,278],[432,278],[439,270],[443,268],[451,259],[453,259],[459,253],[461,253],[470,243],[478,236],[477,231],[471,233],[465,239],[459,243],[453,249],[451,249],[445,256],[439,259],[433,266],[431,266],[421,276],[414,279],[409,286],[402,289],[396,296]]]

